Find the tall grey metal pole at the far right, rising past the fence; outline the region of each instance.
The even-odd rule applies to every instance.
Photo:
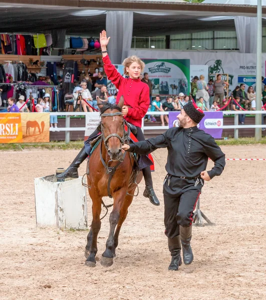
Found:
[[[261,0],[257,0],[257,63],[256,63],[256,110],[261,110],[261,48],[262,48]],[[255,124],[261,125],[261,115],[255,114]],[[261,139],[261,128],[255,128],[255,140]]]

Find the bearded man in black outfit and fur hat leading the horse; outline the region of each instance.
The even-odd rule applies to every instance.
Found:
[[[188,102],[177,116],[178,127],[122,146],[123,150],[139,154],[148,154],[157,148],[168,149],[163,197],[165,234],[172,256],[169,270],[178,270],[182,263],[181,245],[184,263],[193,261],[190,240],[196,202],[204,180],[219,176],[225,166],[225,155],[213,137],[197,127],[203,116],[194,102]],[[206,171],[208,157],[214,166]]]

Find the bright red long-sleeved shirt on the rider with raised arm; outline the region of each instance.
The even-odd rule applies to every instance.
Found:
[[[125,119],[135,126],[141,127],[142,118],[150,105],[148,84],[141,82],[140,79],[124,78],[112,64],[108,55],[103,57],[103,62],[108,79],[119,89],[116,103],[119,102],[121,95],[123,95],[125,99],[124,104],[129,106]]]

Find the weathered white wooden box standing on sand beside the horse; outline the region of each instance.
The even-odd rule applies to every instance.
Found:
[[[46,177],[35,178],[37,226],[87,228],[86,189],[82,177],[53,182]]]

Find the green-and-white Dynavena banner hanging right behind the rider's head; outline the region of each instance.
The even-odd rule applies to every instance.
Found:
[[[189,59],[143,59],[152,81],[152,94],[172,95],[190,90]]]

